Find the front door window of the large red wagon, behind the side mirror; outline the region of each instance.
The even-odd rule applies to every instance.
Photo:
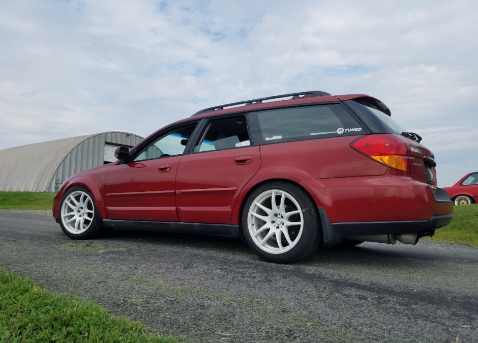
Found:
[[[156,140],[138,153],[134,161],[183,154],[196,125],[197,123],[193,123],[160,134]]]

